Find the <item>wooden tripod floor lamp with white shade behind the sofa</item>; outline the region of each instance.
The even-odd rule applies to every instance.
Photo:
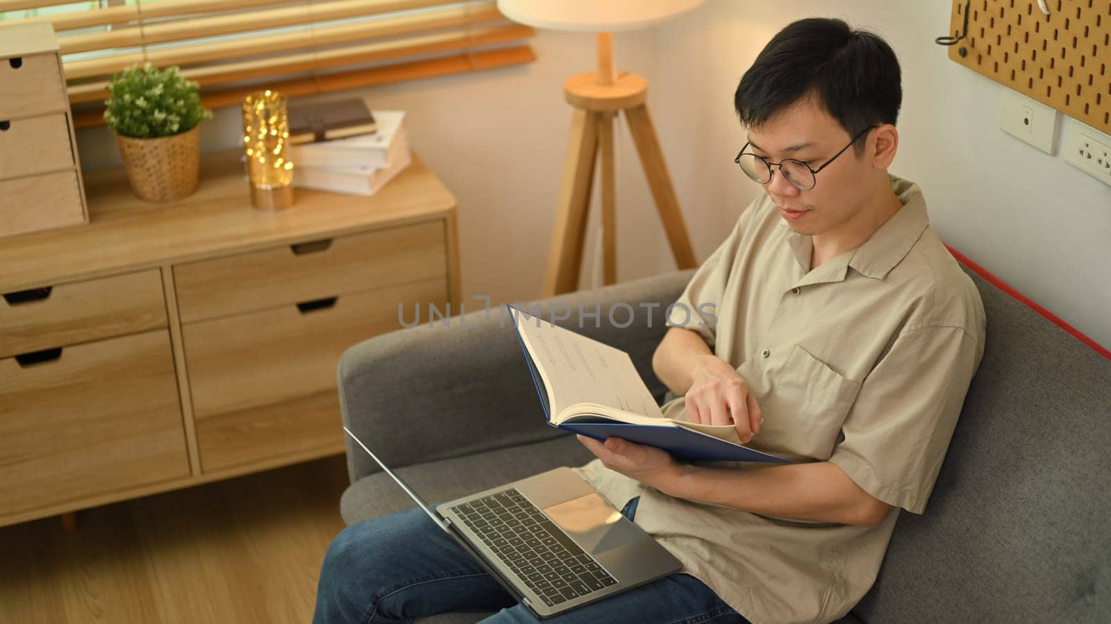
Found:
[[[648,81],[614,70],[613,31],[634,30],[678,16],[702,0],[498,0],[509,19],[543,29],[598,33],[598,70],[572,76],[563,97],[574,107],[552,229],[543,295],[578,289],[587,234],[587,212],[594,178],[601,164],[603,281],[617,282],[617,214],[613,178],[613,120],[624,113],[644,175],[655,200],[675,264],[697,266],[687,225],[679,209],[660,141],[648,113]]]

